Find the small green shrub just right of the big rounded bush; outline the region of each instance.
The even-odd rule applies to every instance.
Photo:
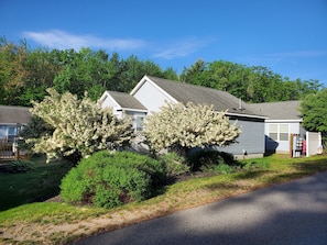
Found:
[[[189,171],[189,166],[186,164],[185,158],[174,152],[161,155],[160,159],[164,162],[168,177],[179,176]]]

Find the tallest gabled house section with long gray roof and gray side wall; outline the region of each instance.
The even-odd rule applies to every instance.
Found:
[[[166,103],[193,102],[212,104],[216,111],[227,111],[230,122],[237,121],[241,134],[237,143],[216,147],[236,157],[262,157],[264,154],[265,116],[254,113],[248,104],[226,91],[144,76],[130,93],[151,112]],[[159,125],[160,126],[160,125]]]

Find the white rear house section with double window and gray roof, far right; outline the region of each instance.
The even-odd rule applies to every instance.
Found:
[[[268,153],[290,153],[291,135],[297,134],[303,140],[306,131],[302,127],[298,111],[301,101],[282,101],[249,104],[252,111],[266,115],[265,149]]]

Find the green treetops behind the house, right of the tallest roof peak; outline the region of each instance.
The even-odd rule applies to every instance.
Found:
[[[323,89],[318,80],[290,80],[263,66],[224,60],[197,60],[183,70],[181,80],[228,91],[250,103],[301,100]]]

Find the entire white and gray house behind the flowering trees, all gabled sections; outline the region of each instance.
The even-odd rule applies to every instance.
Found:
[[[129,101],[129,103],[127,103]],[[298,111],[301,101],[283,101],[248,104],[235,96],[211,88],[144,76],[130,94],[106,91],[101,97],[102,107],[111,107],[116,114],[126,112],[133,115],[134,127],[141,130],[141,121],[148,113],[159,112],[166,103],[193,102],[212,104],[216,111],[226,111],[233,123],[241,129],[237,143],[228,147],[215,147],[236,157],[261,157],[265,153],[290,153],[293,151],[293,135],[297,140],[312,138],[307,148],[316,152],[320,136],[302,127]],[[140,116],[139,120],[138,116]],[[314,140],[313,140],[314,138]],[[308,151],[307,151],[308,152]]]

